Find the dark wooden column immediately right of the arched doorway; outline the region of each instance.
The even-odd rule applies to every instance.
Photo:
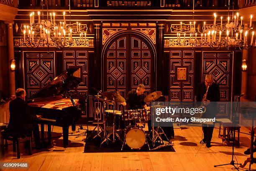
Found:
[[[168,85],[168,71],[165,73],[164,66],[164,24],[157,24],[157,57],[156,57],[156,90],[165,94],[165,87]],[[167,77],[165,77],[167,76]],[[166,81],[165,81],[166,80]],[[166,94],[165,94],[166,95]]]

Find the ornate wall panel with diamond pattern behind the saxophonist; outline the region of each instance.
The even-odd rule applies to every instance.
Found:
[[[203,51],[202,53],[202,81],[206,74],[212,74],[215,83],[220,87],[220,101],[232,101],[233,92],[233,52]],[[218,116],[229,115],[228,103],[218,106]]]

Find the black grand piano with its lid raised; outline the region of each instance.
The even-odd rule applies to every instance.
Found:
[[[81,111],[76,107],[77,101],[72,99],[69,90],[74,89],[80,82],[80,69],[67,69],[28,99],[31,114],[42,115],[37,120],[41,124],[42,142],[44,125],[48,125],[48,144],[51,143],[51,125],[54,125],[62,127],[63,147],[67,147],[69,126],[81,117]]]

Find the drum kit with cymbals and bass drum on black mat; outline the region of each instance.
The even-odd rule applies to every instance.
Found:
[[[160,138],[161,142],[163,141],[160,136],[160,134],[162,133],[158,133],[156,130],[154,130],[154,124],[152,127],[153,129],[151,130],[151,134],[146,134],[145,131],[143,130],[148,120],[151,120],[150,107],[148,107],[147,110],[115,110],[115,103],[123,103],[125,102],[125,99],[114,92],[102,93],[97,89],[95,90],[98,92],[98,95],[97,97],[95,97],[95,99],[98,101],[102,101],[104,105],[103,128],[99,124],[99,119],[97,119],[97,126],[94,129],[95,131],[97,128],[97,134],[93,137],[93,139],[96,137],[102,138],[100,147],[104,143],[108,144],[109,142],[115,142],[116,140],[120,140],[120,142],[123,143],[121,151],[123,150],[124,145],[128,145],[128,147],[130,147],[131,149],[141,149],[145,144],[147,144],[148,149],[151,150],[150,145],[148,143],[148,140],[150,140],[150,142],[152,142],[153,149],[161,148],[161,146],[155,148],[155,142],[157,138]],[[162,92],[160,91],[148,94],[145,97],[144,102],[152,102],[154,100],[157,100],[161,96],[161,94]],[[104,98],[100,98],[100,96]],[[106,104],[113,105],[113,109],[105,110]],[[97,118],[99,118],[98,115]],[[143,126],[138,125],[138,122],[142,123]],[[110,128],[110,131],[109,129],[107,130],[107,128]],[[159,129],[159,127],[157,127],[157,129]],[[150,137],[150,135],[152,136],[152,138]],[[167,137],[166,139],[168,140]]]

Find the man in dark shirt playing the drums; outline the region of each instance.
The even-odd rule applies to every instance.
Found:
[[[126,96],[126,102],[123,102],[122,105],[128,106],[128,110],[135,109],[148,109],[146,102],[144,102],[144,98],[146,95],[144,94],[145,87],[143,84],[139,84],[136,90],[131,90],[128,92]],[[151,122],[151,121],[150,121]]]

